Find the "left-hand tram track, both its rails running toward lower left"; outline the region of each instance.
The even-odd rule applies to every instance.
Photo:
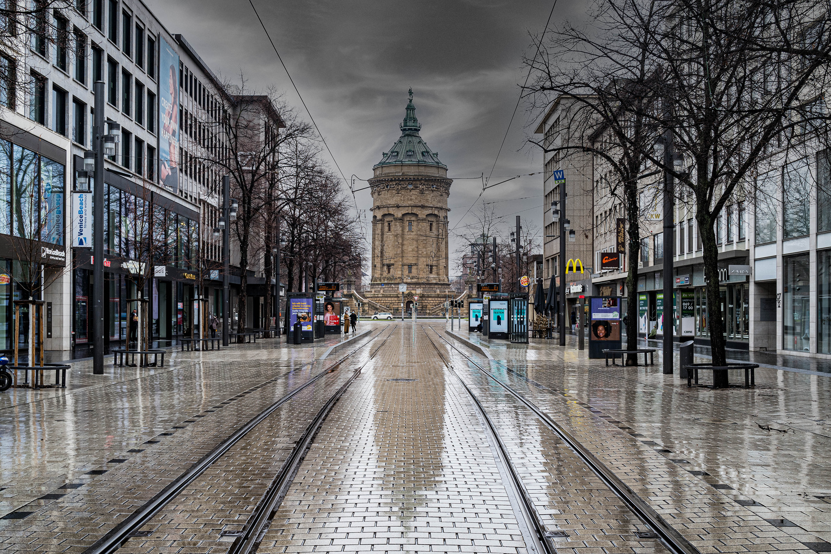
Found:
[[[358,375],[361,375],[361,370],[363,370],[363,368],[371,362],[372,358],[374,358],[378,351],[381,350],[381,347],[386,344],[386,341],[389,340],[390,336],[392,336],[395,331],[396,326],[392,326],[391,331],[387,333],[386,337],[384,337],[383,341],[381,341],[381,345],[379,345],[375,351],[371,351],[366,361],[356,370],[353,370],[349,379],[340,388],[338,388],[338,390],[327,400],[322,408],[318,410],[317,415],[312,419],[312,422],[307,425],[307,428],[303,431],[301,438],[297,440],[292,452],[289,454],[288,458],[283,463],[283,466],[273,478],[272,483],[268,486],[263,498],[261,498],[257,503],[253,514],[251,517],[248,517],[248,520],[243,526],[242,532],[240,532],[238,536],[234,536],[234,543],[232,544],[229,552],[235,552],[238,554],[242,554],[244,552],[256,552],[258,537],[261,537],[264,529],[267,528],[265,526],[270,521],[270,517],[273,517],[273,511],[278,507],[278,503],[282,500],[288,485],[292,481],[294,473],[296,473],[299,464],[302,462],[302,458],[308,447],[312,444],[314,435],[317,433],[320,425],[326,419],[327,414],[332,409],[332,406],[337,403],[337,400],[341,397],[341,395],[343,395],[344,392],[346,392],[349,385],[352,385],[352,382],[358,377]],[[356,346],[356,348],[350,351],[347,355],[343,355],[332,365],[328,365],[325,369],[318,372],[317,375],[314,375],[302,385],[298,385],[296,388],[289,391],[288,394],[283,395],[283,397],[279,400],[260,411],[252,419],[249,419],[246,424],[243,424],[241,427],[236,429],[233,434],[230,434],[220,444],[214,447],[214,449],[212,449],[209,453],[205,454],[203,458],[200,458],[199,461],[191,465],[190,468],[184,471],[184,473],[181,473],[179,477],[175,478],[164,489],[162,489],[160,493],[157,493],[153,498],[150,498],[149,501],[130,513],[130,515],[119,522],[116,527],[113,527],[109,532],[107,532],[104,537],[101,537],[90,547],[87,547],[83,552],[85,554],[106,554],[117,552],[128,539],[131,537],[141,536],[143,534],[140,533],[141,527],[145,527],[145,525],[149,523],[153,517],[155,517],[175,498],[177,498],[179,494],[183,493],[185,488],[187,488],[191,483],[194,483],[194,481],[208,468],[222,459],[235,444],[238,444],[238,442],[255,429],[258,424],[263,423],[268,416],[273,414],[283,404],[286,404],[289,400],[296,397],[298,393],[302,392],[302,390],[306,390],[318,380],[321,380],[323,377],[339,369],[344,362],[349,360],[357,352],[361,351],[362,348],[371,344],[372,341],[381,338],[382,335],[383,331],[376,336],[371,336],[369,341]]]

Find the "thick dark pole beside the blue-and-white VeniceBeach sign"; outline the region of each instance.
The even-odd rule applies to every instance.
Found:
[[[104,106],[106,85],[96,81],[92,86],[95,94],[95,109],[92,150],[96,154],[95,189],[92,194],[92,373],[104,375]]]

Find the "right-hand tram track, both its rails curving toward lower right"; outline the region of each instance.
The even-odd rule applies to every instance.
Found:
[[[485,369],[482,365],[472,358],[470,355],[465,354],[464,351],[461,351],[457,346],[455,346],[451,341],[448,341],[444,336],[441,336],[438,331],[436,331],[433,327],[430,327],[430,330],[435,333],[436,336],[440,338],[440,340],[445,341],[445,343],[450,346],[453,350],[457,351],[460,355],[462,355],[471,365],[474,365],[479,372],[484,374],[489,380],[493,380],[497,385],[502,387],[509,395],[513,396],[516,400],[519,400],[521,404],[524,404],[526,408],[528,408],[548,429],[551,429],[558,437],[563,440],[565,444],[568,445],[568,448],[576,453],[578,458],[595,474],[597,478],[600,478],[602,483],[606,485],[609,490],[614,493],[617,498],[620,498],[622,502],[629,508],[629,510],[646,525],[654,536],[661,541],[661,543],[670,551],[672,554],[700,554],[700,552],[694,547],[689,541],[686,540],[681,533],[678,532],[674,527],[671,527],[664,519],[661,517],[655,510],[652,509],[642,498],[640,498],[637,493],[635,493],[632,488],[630,488],[626,483],[623,483],[620,478],[617,477],[615,473],[612,472],[604,463],[602,463],[597,457],[591,453],[583,444],[581,444],[578,439],[575,439],[572,434],[568,432],[568,430],[564,429],[562,425],[558,424],[554,419],[552,419],[548,414],[545,414],[543,410],[539,409],[534,402],[529,400],[524,395],[520,394],[517,390],[514,390],[513,387],[505,384],[502,380],[499,380],[496,376],[491,374],[489,370]],[[530,499],[530,496],[527,492],[527,489],[524,487],[522,483],[522,479],[519,478],[519,473],[517,472],[516,468],[514,468],[514,464],[510,461],[509,453],[507,449],[504,449],[504,442],[499,438],[499,432],[495,428],[493,422],[489,419],[489,416],[484,411],[484,406],[479,401],[479,398],[475,395],[473,390],[465,383],[464,380],[461,379],[460,375],[455,372],[453,365],[450,363],[444,353],[440,350],[440,348],[435,344],[435,341],[430,337],[430,333],[425,330],[425,335],[430,340],[430,343],[435,348],[435,351],[439,354],[440,358],[444,360],[445,365],[447,365],[448,369],[456,376],[457,379],[460,380],[462,385],[464,386],[465,390],[467,390],[468,394],[470,395],[471,399],[473,400],[476,408],[479,410],[480,414],[484,416],[484,420],[487,422],[489,427],[489,432],[496,435],[497,442],[499,444],[500,452],[504,452],[504,457],[506,464],[510,468],[510,473],[513,476],[513,479],[518,482],[515,485],[516,488],[519,489],[520,497],[523,498],[524,505],[530,515],[531,522],[536,530],[536,534],[538,537],[542,537],[542,547],[544,552],[556,552],[553,543],[551,542],[550,538],[548,537],[548,532],[545,529],[543,522],[539,519],[538,512],[534,507],[533,501]],[[529,506],[530,504],[530,506]],[[550,550],[548,550],[550,549]]]

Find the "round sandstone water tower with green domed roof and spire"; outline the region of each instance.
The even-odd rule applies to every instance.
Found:
[[[450,292],[447,199],[453,180],[447,178],[438,153],[420,137],[420,129],[411,90],[401,137],[383,153],[369,180],[372,267],[365,294],[397,307],[398,285],[405,283],[411,293],[407,297],[418,296],[423,313],[445,302]]]

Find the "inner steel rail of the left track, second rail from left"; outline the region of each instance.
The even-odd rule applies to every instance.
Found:
[[[317,431],[323,424],[323,421],[327,418],[327,415],[332,410],[332,407],[337,403],[337,400],[339,400],[341,395],[347,391],[349,385],[352,385],[352,382],[356,380],[357,376],[361,375],[361,370],[363,370],[363,368],[372,361],[372,358],[375,357],[378,351],[380,351],[386,344],[386,341],[390,339],[394,331],[395,327],[393,327],[393,330],[390,331],[390,334],[386,336],[384,341],[381,342],[381,345],[376,348],[376,351],[370,354],[369,359],[366,360],[361,367],[357,368],[352,373],[349,380],[347,380],[347,382],[344,383],[334,395],[332,395],[327,403],[323,405],[320,411],[317,412],[315,418],[312,419],[312,423],[308,424],[306,430],[302,434],[302,437],[297,440],[297,444],[292,449],[292,453],[283,463],[283,467],[280,468],[277,475],[273,478],[273,481],[268,486],[265,494],[263,494],[263,498],[261,498],[257,503],[257,506],[254,507],[254,511],[251,516],[248,517],[248,521],[245,522],[239,537],[234,539],[234,542],[229,548],[228,554],[248,554],[249,552],[257,552],[259,543],[263,540],[263,536],[267,531],[268,523],[273,519],[273,514],[277,511],[279,504],[283,502],[283,498],[288,492],[288,487],[292,484],[294,475],[297,473],[297,469],[300,468],[300,463],[302,463],[303,458],[306,457],[307,450],[312,446],[312,441],[314,440]]]

